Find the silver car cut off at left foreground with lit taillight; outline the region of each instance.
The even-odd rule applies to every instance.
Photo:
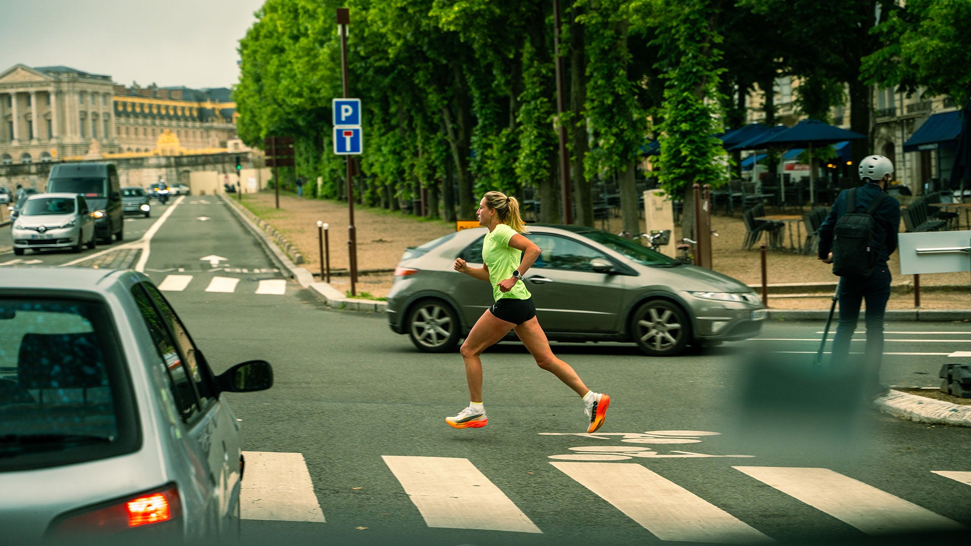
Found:
[[[245,461],[223,392],[269,389],[269,363],[215,375],[131,270],[6,268],[0,330],[4,543],[215,544],[238,533]]]

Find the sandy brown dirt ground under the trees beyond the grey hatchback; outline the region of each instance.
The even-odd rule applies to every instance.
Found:
[[[342,277],[341,270],[348,267],[348,226],[350,217],[348,205],[344,202],[297,197],[292,193],[281,193],[280,208],[276,208],[276,198],[272,191],[261,191],[243,196],[243,204],[256,216],[273,224],[286,239],[296,246],[304,256],[303,264],[315,275],[320,272],[318,251],[317,222],[329,224],[331,284],[335,289],[350,290],[350,282]],[[770,214],[775,211],[768,211]],[[792,214],[793,211],[788,211]],[[795,211],[798,212],[798,211]],[[734,277],[747,285],[761,283],[761,253],[755,248],[742,250],[745,225],[741,218],[715,215],[712,224],[719,236],[713,238],[712,261],[714,269]],[[357,291],[367,291],[373,296],[384,296],[391,286],[391,275],[405,249],[417,246],[436,237],[452,232],[455,227],[450,222],[429,221],[407,216],[401,212],[385,211],[356,205],[354,207],[354,226],[357,230]],[[601,227],[618,233],[621,229],[619,218],[609,222],[597,222]],[[644,220],[641,229],[646,230]],[[786,245],[797,247],[800,238],[805,238],[805,229],[797,230],[792,225],[791,238],[787,232]],[[897,254],[890,256],[890,271],[900,271]],[[374,271],[380,274],[369,275]],[[336,275],[334,275],[336,274]],[[835,283],[829,265],[822,263],[816,256],[804,256],[783,251],[766,252],[766,282],[773,284],[794,283]],[[968,273],[936,273],[921,275],[921,310],[971,309],[971,275]],[[943,290],[942,287],[957,287]],[[756,291],[759,291],[756,289]],[[828,310],[832,292],[818,291],[807,295],[808,290],[799,290],[801,297],[783,297],[777,290],[769,291],[769,307],[772,309],[812,309]],[[914,276],[894,276],[894,291],[887,303],[887,309],[913,310]],[[971,319],[971,318],[969,318]]]

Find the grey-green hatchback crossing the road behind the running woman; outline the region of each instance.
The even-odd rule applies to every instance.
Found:
[[[542,254],[524,282],[552,340],[634,342],[648,355],[670,357],[691,344],[754,337],[767,316],[743,283],[636,241],[575,225],[533,224],[529,231]],[[387,294],[393,331],[424,352],[454,349],[492,304],[484,282],[452,269],[456,257],[480,266],[485,233],[463,229],[405,251]]]

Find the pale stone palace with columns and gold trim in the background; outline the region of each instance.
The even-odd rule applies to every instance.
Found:
[[[64,66],[0,72],[0,164],[217,154],[236,138],[219,87],[126,87]]]

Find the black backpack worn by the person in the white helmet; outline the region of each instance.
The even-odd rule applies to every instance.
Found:
[[[833,226],[833,274],[869,277],[880,258],[880,242],[874,246],[873,213],[887,194],[881,192],[861,213],[856,212],[856,188],[847,190],[847,213]]]

